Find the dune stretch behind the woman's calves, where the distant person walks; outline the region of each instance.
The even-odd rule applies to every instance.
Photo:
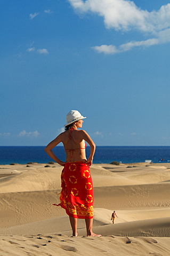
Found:
[[[169,208],[152,210],[117,211],[118,218],[112,225],[111,210],[94,209],[94,230],[103,236],[165,236],[169,237]],[[144,214],[144,215],[143,215]],[[155,218],[154,218],[155,217]],[[121,224],[121,225],[120,225]],[[98,228],[97,228],[98,227]],[[85,235],[85,222],[78,220],[79,235]],[[98,231],[99,230],[99,231]],[[0,228],[0,234],[52,234],[55,232],[71,235],[71,227],[67,215],[23,225]],[[66,231],[66,232],[64,232]],[[135,234],[134,234],[135,233]]]

